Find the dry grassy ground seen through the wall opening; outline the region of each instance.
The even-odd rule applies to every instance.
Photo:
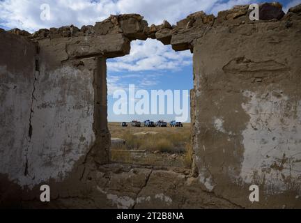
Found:
[[[125,140],[125,144],[112,143],[112,161],[190,168],[190,123],[183,123],[183,128],[122,127],[121,123],[109,123],[109,131],[111,138]]]

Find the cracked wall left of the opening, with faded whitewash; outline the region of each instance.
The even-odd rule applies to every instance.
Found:
[[[105,59],[67,61],[63,41],[31,43],[10,33],[0,36],[1,174],[6,176],[1,187],[12,181],[29,192],[19,194],[20,199],[30,199],[41,184],[82,175],[88,161],[107,163]],[[53,197],[61,190],[56,183]]]

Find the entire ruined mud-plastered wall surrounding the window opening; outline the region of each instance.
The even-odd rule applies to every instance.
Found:
[[[0,30],[0,206],[301,208],[301,5],[260,10]],[[106,59],[146,38],[194,54],[191,171],[109,164]]]

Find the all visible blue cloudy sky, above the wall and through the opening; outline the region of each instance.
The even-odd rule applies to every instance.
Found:
[[[24,29],[33,33],[38,29],[60,27],[74,24],[95,24],[109,15],[121,13],[139,13],[148,24],[161,24],[163,20],[176,24],[190,13],[203,10],[207,14],[217,15],[238,4],[260,3],[249,0],[0,0],[0,28]],[[279,1],[286,12],[288,8],[301,3],[301,0]],[[48,3],[51,19],[40,20],[40,6]],[[133,41],[130,55],[107,61],[108,82],[108,119],[109,121],[171,121],[174,115],[121,116],[112,111],[114,100],[112,93],[116,89],[128,89],[135,84],[138,89],[151,90],[190,90],[192,84],[192,54],[189,51],[173,52],[170,46],[164,46],[156,40]],[[190,121],[187,120],[187,121]]]

